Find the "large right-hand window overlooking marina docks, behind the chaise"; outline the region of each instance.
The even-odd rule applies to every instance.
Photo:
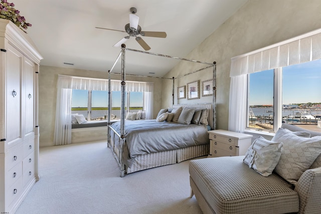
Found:
[[[317,130],[321,117],[320,69],[321,60],[314,60],[248,74],[247,127],[273,131],[279,120]]]

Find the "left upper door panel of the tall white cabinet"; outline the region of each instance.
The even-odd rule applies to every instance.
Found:
[[[22,54],[9,45],[7,48],[7,142],[20,141],[21,136],[21,76]],[[13,143],[14,144],[14,143]],[[13,145],[12,144],[12,145]]]

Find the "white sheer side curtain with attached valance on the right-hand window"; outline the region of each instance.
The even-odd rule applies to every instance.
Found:
[[[247,74],[321,58],[321,28],[231,58],[229,130],[243,132],[247,121]]]

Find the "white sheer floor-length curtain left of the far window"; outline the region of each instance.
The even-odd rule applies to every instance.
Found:
[[[71,143],[71,95],[72,89],[57,88],[55,145]]]

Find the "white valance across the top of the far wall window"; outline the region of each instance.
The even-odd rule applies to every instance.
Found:
[[[108,90],[108,79],[58,75],[57,88]],[[111,91],[120,91],[120,80],[110,81]],[[153,82],[126,81],[127,91],[152,92]]]

